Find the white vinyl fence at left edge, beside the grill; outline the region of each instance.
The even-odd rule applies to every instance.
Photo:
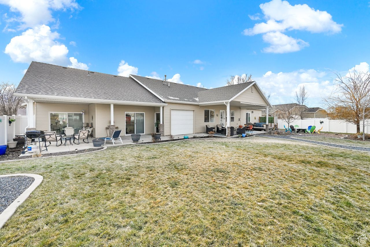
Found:
[[[9,117],[15,119],[9,126]],[[8,141],[13,141],[16,135],[23,134],[28,125],[27,116],[0,116],[0,145],[6,145]]]

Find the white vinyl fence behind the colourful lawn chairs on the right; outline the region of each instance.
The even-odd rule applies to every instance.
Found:
[[[323,121],[320,124],[320,121]],[[277,127],[282,129],[285,127],[289,127],[288,124],[282,120],[277,120]],[[290,122],[290,125],[298,125],[299,128],[307,128],[308,126],[316,126],[316,130],[319,130],[323,127],[322,131],[326,132],[336,132],[336,133],[356,133],[356,124],[347,123],[346,121],[342,120],[332,120],[332,119],[303,119],[303,120],[294,120]],[[360,131],[362,132],[362,121],[360,123]],[[370,134],[370,120],[365,120],[365,133]]]

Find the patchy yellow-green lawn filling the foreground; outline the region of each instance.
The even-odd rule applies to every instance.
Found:
[[[44,181],[0,246],[357,246],[370,233],[370,156],[312,147],[190,140],[3,163],[0,174]]]

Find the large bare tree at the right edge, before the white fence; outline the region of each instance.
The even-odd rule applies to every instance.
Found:
[[[357,133],[360,133],[360,121],[370,117],[369,94],[370,94],[370,73],[350,71],[346,76],[337,76],[337,89],[323,99],[326,104],[329,117],[332,119],[344,120],[356,124]]]

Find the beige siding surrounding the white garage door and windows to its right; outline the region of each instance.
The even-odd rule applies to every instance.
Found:
[[[206,124],[212,127],[216,127],[216,124],[220,123],[220,110],[225,110],[225,105],[212,105],[212,106],[198,106],[193,104],[176,104],[168,103],[164,107],[164,131],[165,135],[171,134],[171,109],[174,110],[192,110],[194,111],[194,133],[204,133]],[[204,122],[204,110],[215,110],[215,122],[205,123]],[[240,107],[230,107],[230,111],[235,111],[235,121],[230,121],[230,126],[237,127],[239,124],[245,124],[246,110],[240,109]],[[239,120],[240,118],[240,120]]]

